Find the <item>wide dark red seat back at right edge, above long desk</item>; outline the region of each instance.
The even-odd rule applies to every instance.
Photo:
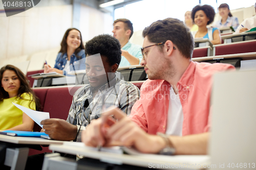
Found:
[[[230,43],[228,45],[216,46],[215,55],[218,56],[250,52],[256,52],[256,41],[242,41],[241,43]]]

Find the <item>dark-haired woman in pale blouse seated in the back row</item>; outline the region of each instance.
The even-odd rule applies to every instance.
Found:
[[[221,4],[219,6],[219,14],[221,16],[221,20],[218,20],[214,23],[214,27],[217,28],[224,28],[224,27],[233,27],[236,31],[239,26],[238,18],[232,16],[229,10],[229,6],[227,4]]]

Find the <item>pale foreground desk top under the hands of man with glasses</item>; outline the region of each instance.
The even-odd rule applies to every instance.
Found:
[[[85,157],[90,157],[93,159],[99,159],[103,162],[112,162],[115,164],[129,164],[135,166],[143,166],[149,167],[150,164],[155,165],[166,165],[168,164],[168,168],[166,169],[177,169],[175,165],[179,164],[183,168],[187,167],[185,164],[195,165],[200,164],[201,167],[205,164],[206,166],[210,163],[210,157],[208,155],[176,155],[176,156],[164,156],[164,155],[153,155],[153,154],[141,154],[141,155],[126,155],[126,154],[115,154],[115,153],[107,153],[107,152],[99,152],[95,150],[90,150],[87,147],[81,146],[81,144],[77,143],[78,145],[69,145],[64,143],[63,145],[55,145],[51,144],[49,149],[61,153],[67,154],[80,154],[84,155]],[[183,164],[185,163],[185,164]],[[172,167],[173,165],[173,167]],[[200,169],[193,166],[187,169]]]

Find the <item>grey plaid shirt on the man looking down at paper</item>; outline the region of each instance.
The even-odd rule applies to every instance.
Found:
[[[77,131],[79,128],[86,129],[92,119],[99,118],[103,107],[108,109],[110,106],[116,106],[130,115],[133,105],[139,100],[140,90],[129,82],[114,78],[99,88],[94,99],[92,96],[90,84],[79,88],[73,96],[67,122],[81,125],[81,127],[77,126]],[[80,137],[79,133],[77,141],[80,141]]]

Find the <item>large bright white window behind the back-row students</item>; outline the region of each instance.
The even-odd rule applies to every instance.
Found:
[[[201,0],[201,5],[210,5],[218,12],[218,7],[222,3],[227,3],[232,9],[250,7],[255,4],[255,0],[245,0],[243,3],[237,3],[233,0]],[[186,11],[191,11],[199,0],[143,0],[122,8],[115,9],[115,19],[127,18],[133,22],[134,31],[143,30],[150,26],[152,22],[167,17],[184,20]]]

